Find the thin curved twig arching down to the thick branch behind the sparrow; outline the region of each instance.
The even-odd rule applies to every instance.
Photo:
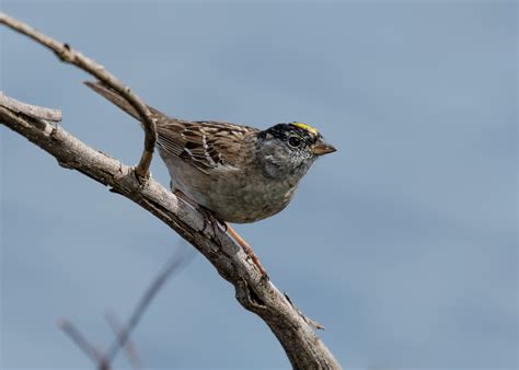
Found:
[[[104,84],[117,91],[137,111],[145,129],[145,149],[135,171],[139,177],[146,178],[149,174],[149,167],[153,158],[153,150],[157,142],[157,128],[154,120],[151,118],[148,106],[140,100],[140,97],[120,82],[114,74],[105,70],[103,66],[72,49],[69,44],[59,43],[34,30],[30,25],[2,12],[0,12],[0,23],[31,37],[38,44],[53,50],[61,61],[77,66],[85,72],[94,76]]]

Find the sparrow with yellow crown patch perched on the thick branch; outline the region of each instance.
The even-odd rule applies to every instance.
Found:
[[[85,81],[120,109],[137,111],[103,82]],[[250,223],[284,210],[315,160],[336,151],[312,126],[280,123],[267,129],[219,120],[184,120],[148,106],[157,127],[157,148],[171,190],[220,222],[258,267],[252,247],[228,224]]]

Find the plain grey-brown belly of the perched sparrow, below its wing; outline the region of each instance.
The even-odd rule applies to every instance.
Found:
[[[281,211],[290,203],[297,185],[267,181],[240,171],[211,174],[193,169],[181,159],[168,159],[172,186],[215,212],[219,220],[247,223]]]

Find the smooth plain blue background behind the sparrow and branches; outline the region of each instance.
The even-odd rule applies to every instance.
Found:
[[[516,368],[517,3],[24,1],[3,11],[70,43],[187,119],[316,126],[339,151],[293,203],[240,226],[345,368]],[[88,77],[1,32],[1,89],[127,164],[142,132]],[[88,369],[178,236],[1,127],[2,369]],[[158,158],[153,176],[168,184]],[[134,335],[147,368],[288,368],[201,257]],[[119,368],[127,367],[124,357]]]

